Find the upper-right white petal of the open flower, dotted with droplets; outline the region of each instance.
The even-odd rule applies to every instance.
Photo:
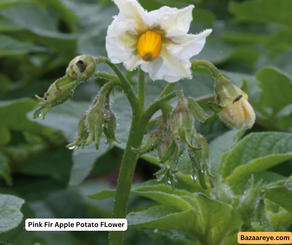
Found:
[[[194,5],[182,9],[163,6],[160,9],[148,12],[144,20],[151,28],[159,27],[166,32],[181,30],[187,33],[193,20],[193,8]]]

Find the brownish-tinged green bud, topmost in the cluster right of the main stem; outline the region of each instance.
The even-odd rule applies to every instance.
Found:
[[[177,107],[172,111],[169,121],[171,132],[176,140],[184,139],[188,145],[192,145],[195,119],[185,104],[182,91],[177,91],[177,94]]]

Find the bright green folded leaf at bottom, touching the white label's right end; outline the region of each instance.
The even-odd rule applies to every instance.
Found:
[[[177,208],[156,206],[130,213],[127,215],[129,227],[177,230],[194,236],[202,244],[219,244],[224,235],[242,224],[237,210],[227,204],[200,194],[182,198],[192,204],[193,209],[180,212]]]

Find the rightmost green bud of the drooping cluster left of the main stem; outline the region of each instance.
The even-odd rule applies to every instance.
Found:
[[[106,136],[106,143],[108,144],[108,148],[112,147],[112,142],[116,141],[117,143],[121,143],[116,139],[116,115],[112,112],[110,108],[105,111],[105,123],[103,127],[103,133]]]

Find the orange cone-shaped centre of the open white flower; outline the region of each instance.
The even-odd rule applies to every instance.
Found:
[[[138,40],[137,50],[144,61],[153,61],[162,49],[161,35],[154,31],[146,31]]]

